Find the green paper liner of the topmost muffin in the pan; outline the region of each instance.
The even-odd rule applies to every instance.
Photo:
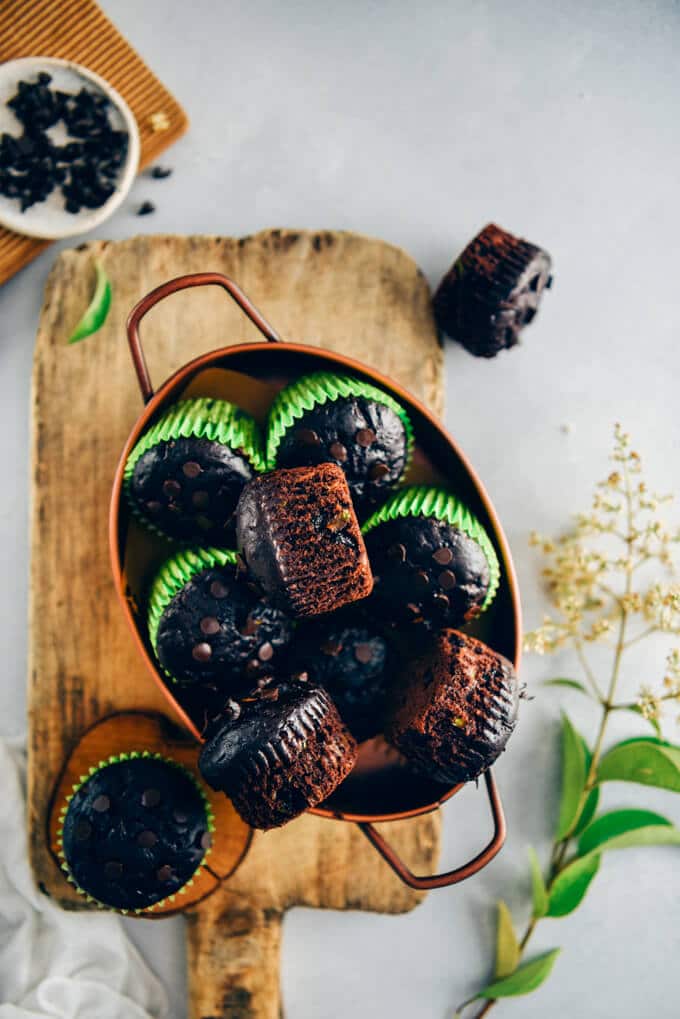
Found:
[[[276,466],[278,447],[283,435],[308,411],[320,404],[326,404],[344,396],[364,396],[376,404],[390,408],[401,419],[406,431],[407,453],[404,465],[406,474],[413,454],[413,425],[406,410],[394,396],[377,386],[350,375],[333,375],[330,372],[315,372],[293,382],[276,395],[269,412],[267,427],[266,460],[269,470]]]

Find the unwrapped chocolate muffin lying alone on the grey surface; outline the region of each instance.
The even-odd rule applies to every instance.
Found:
[[[438,327],[479,358],[515,346],[552,285],[551,264],[542,248],[489,223],[437,287]]]

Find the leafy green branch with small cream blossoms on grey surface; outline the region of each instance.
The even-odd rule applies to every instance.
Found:
[[[608,782],[680,793],[680,747],[661,736],[664,708],[680,702],[680,648],[668,654],[661,687],[645,683],[634,699],[618,699],[629,649],[659,635],[680,637],[680,585],[659,580],[660,570],[673,575],[673,547],[680,533],[668,530],[659,519],[658,511],[669,497],[649,493],[640,477],[640,458],[618,425],[612,460],[615,470],[597,485],[590,512],[580,515],[569,533],[556,540],[531,537],[547,559],[543,577],[555,610],[527,635],[526,646],[540,654],[573,650],[583,681],[559,677],[545,685],[590,698],[599,710],[596,735],[590,747],[563,713],[560,810],[544,871],[529,850],[531,918],[520,937],[508,906],[499,902],[494,978],[459,1006],[457,1016],[483,1002],[476,1017],[482,1019],[502,999],[529,994],[547,979],[560,950],[528,961],[525,950],[543,918],[568,916],[582,903],[605,853],[680,845],[680,829],[650,810],[597,813]],[[589,644],[604,644],[611,652],[601,686],[588,660]],[[606,749],[616,711],[646,720],[655,735]]]

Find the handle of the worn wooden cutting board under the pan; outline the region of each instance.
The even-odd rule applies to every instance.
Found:
[[[191,1019],[280,1019],[282,920],[226,886],[188,916]]]

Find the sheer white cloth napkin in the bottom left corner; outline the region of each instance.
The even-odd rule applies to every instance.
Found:
[[[111,913],[38,891],[25,833],[25,756],[0,740],[0,1019],[161,1019],[167,999]]]

